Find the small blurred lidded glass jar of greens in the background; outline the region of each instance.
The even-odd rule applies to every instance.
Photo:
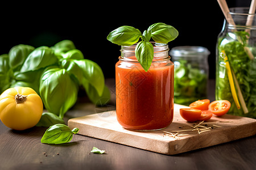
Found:
[[[174,103],[189,105],[207,99],[208,56],[202,46],[176,46],[170,56],[174,62]]]

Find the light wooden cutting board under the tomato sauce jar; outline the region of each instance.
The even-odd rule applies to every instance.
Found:
[[[180,108],[187,107],[175,104],[174,121],[168,128],[158,131],[139,132],[124,129],[118,124],[115,111],[71,118],[68,121],[68,126],[70,128],[79,128],[78,134],[81,135],[166,155],[218,145],[256,134],[255,119],[229,114],[225,114],[222,117],[213,116],[209,121],[201,123],[200,125],[206,128],[212,127],[213,129],[210,128],[208,131],[200,132],[191,127],[198,125],[200,122],[191,123],[185,121],[179,114]],[[196,128],[203,129],[202,126],[197,126]],[[164,133],[164,131],[178,134],[172,136]]]

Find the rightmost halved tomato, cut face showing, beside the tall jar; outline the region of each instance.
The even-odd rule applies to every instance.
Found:
[[[230,105],[228,100],[215,100],[209,104],[209,110],[216,116],[222,116],[228,113]]]

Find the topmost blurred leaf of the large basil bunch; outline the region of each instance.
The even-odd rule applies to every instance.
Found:
[[[62,53],[68,52],[69,50],[76,49],[76,46],[71,40],[63,40],[63,41],[57,42],[51,48],[54,50],[55,54],[62,54]]]

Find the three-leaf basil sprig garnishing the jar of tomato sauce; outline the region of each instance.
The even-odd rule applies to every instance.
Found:
[[[155,23],[150,25],[143,34],[134,27],[122,26],[110,32],[107,39],[117,45],[130,46],[141,38],[141,41],[135,47],[135,57],[143,69],[148,71],[154,58],[154,48],[149,42],[150,39],[152,38],[155,42],[167,44],[176,39],[178,35],[177,29],[171,25]]]

